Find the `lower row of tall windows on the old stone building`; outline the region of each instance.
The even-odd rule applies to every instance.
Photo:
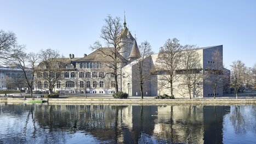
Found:
[[[66,88],[74,88],[75,87],[75,82],[72,81],[72,80],[67,81],[65,84],[66,84],[65,85]],[[93,83],[92,83],[93,88],[98,87],[98,85],[99,85],[100,88],[104,88],[104,82],[103,81],[100,81],[99,83],[96,82],[96,81],[93,81]],[[60,87],[61,87],[60,82],[57,82],[56,83],[56,88],[60,88]],[[79,82],[79,87],[84,88],[84,82],[83,81]],[[90,81],[87,81],[86,82],[86,88],[90,88],[90,87],[91,87],[91,83],[90,83]],[[42,82],[37,82],[37,88],[42,89]],[[48,88],[48,82],[47,81],[45,81],[43,83],[43,88],[44,89]],[[115,88],[115,82],[113,82],[113,81],[111,82],[111,88]]]

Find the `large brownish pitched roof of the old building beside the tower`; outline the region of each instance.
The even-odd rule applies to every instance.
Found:
[[[112,62],[113,59],[111,56],[114,56],[114,49],[113,48],[99,48],[93,53],[90,53],[87,56],[82,57],[81,59],[76,60],[75,62]],[[123,58],[122,55],[117,55],[120,62],[126,62],[127,60]]]

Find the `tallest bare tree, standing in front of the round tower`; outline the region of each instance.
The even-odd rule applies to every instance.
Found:
[[[110,15],[105,19],[105,25],[101,28],[100,38],[106,44],[106,48],[101,48],[99,42],[94,43],[93,49],[99,50],[100,55],[104,59],[109,60],[105,63],[106,67],[110,68],[112,72],[107,72],[106,74],[113,74],[115,79],[115,90],[118,92],[118,76],[121,76],[119,72],[122,67],[122,62],[126,61],[121,53],[123,53],[122,48],[125,43],[123,43],[122,36],[122,26],[120,18],[112,18]]]

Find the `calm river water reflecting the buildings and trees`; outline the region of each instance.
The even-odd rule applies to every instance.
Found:
[[[0,103],[0,143],[230,143],[241,134],[247,143],[255,118],[255,105]]]

